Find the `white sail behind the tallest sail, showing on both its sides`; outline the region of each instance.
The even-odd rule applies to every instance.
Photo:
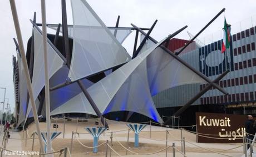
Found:
[[[56,24],[47,24],[47,27],[57,30],[58,26]],[[115,38],[119,41],[120,44],[124,42],[124,40],[131,34],[131,28],[122,28],[122,27],[108,27],[110,32],[115,36]],[[116,31],[116,34],[115,34]],[[60,32],[62,33],[62,26],[60,27]],[[67,27],[68,36],[74,38],[74,30],[73,26]]]

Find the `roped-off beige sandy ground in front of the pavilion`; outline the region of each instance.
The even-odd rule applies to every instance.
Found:
[[[72,156],[105,156],[106,155],[106,144],[99,146],[98,153],[92,153],[91,148],[85,148],[82,146],[79,141],[86,146],[92,146],[92,136],[88,134],[88,132],[84,129],[85,126],[101,126],[95,125],[95,121],[97,119],[90,119],[88,122],[78,122],[73,119],[72,121],[66,121],[65,123],[65,138],[63,138],[63,120],[57,120],[58,129],[57,131],[61,131],[62,133],[52,142],[52,147],[54,150],[60,150],[62,148],[68,147],[71,148],[71,136],[72,131],[80,133],[79,137],[76,134],[76,139],[73,139],[72,146]],[[112,148],[117,151],[122,156],[126,155],[125,148],[134,151],[139,154],[150,154],[161,149],[165,148],[166,144],[166,129],[168,130],[168,146],[175,143],[175,147],[178,150],[181,150],[181,131],[179,129],[170,129],[164,128],[160,126],[152,126],[151,127],[151,138],[150,138],[150,125],[147,125],[145,129],[140,133],[140,144],[139,148],[134,147],[134,132],[130,131],[129,133],[129,142],[127,142],[128,136],[128,128],[126,126],[127,123],[121,121],[112,121],[107,120],[109,124],[109,130],[105,131],[105,134],[102,134],[99,139],[99,144],[105,143],[106,140],[111,141],[110,135],[111,131],[113,132],[112,138]],[[53,124],[56,124],[56,120],[52,120],[51,131],[56,131],[53,128]],[[78,126],[76,128],[76,126]],[[46,131],[46,123],[40,123],[41,131]],[[36,130],[35,124],[31,124],[28,126],[27,133],[26,131],[20,131],[19,133],[11,132],[11,138],[30,138],[32,133]],[[185,142],[185,150],[187,156],[224,156],[221,154],[213,153],[209,150],[218,151],[220,153],[224,153],[228,156],[242,156],[243,155],[243,147],[239,147],[237,149],[232,149],[237,146],[242,145],[241,143],[234,144],[206,144],[206,143],[196,143],[196,135],[193,133],[189,133],[188,131],[183,130],[183,136],[188,142]],[[79,140],[79,141],[78,141]],[[125,147],[120,145],[120,143]],[[203,148],[209,149],[205,150]],[[40,146],[38,143],[38,139],[35,139],[35,147],[34,150],[39,150]],[[32,150],[32,140],[27,140],[27,145],[25,140],[14,140],[9,139],[7,144],[7,149],[11,150]],[[232,150],[227,150],[232,149]],[[227,150],[227,151],[223,151]],[[110,153],[110,148],[108,149]],[[108,154],[109,156],[110,154]],[[112,156],[117,156],[113,151],[111,152]],[[55,154],[55,156],[58,156]],[[67,155],[68,156],[68,155]],[[128,151],[127,156],[145,156],[133,154]],[[165,156],[165,150],[157,153],[146,156]],[[173,148],[168,149],[168,156],[173,156]],[[178,151],[175,151],[175,156],[183,156]]]

